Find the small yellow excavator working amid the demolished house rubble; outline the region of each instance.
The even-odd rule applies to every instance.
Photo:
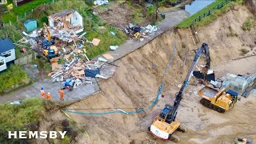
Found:
[[[58,49],[54,46],[54,41],[51,38],[50,30],[47,28],[46,23],[43,23],[42,34],[46,35],[46,40],[42,41],[43,54],[46,58],[54,58],[58,55]]]

